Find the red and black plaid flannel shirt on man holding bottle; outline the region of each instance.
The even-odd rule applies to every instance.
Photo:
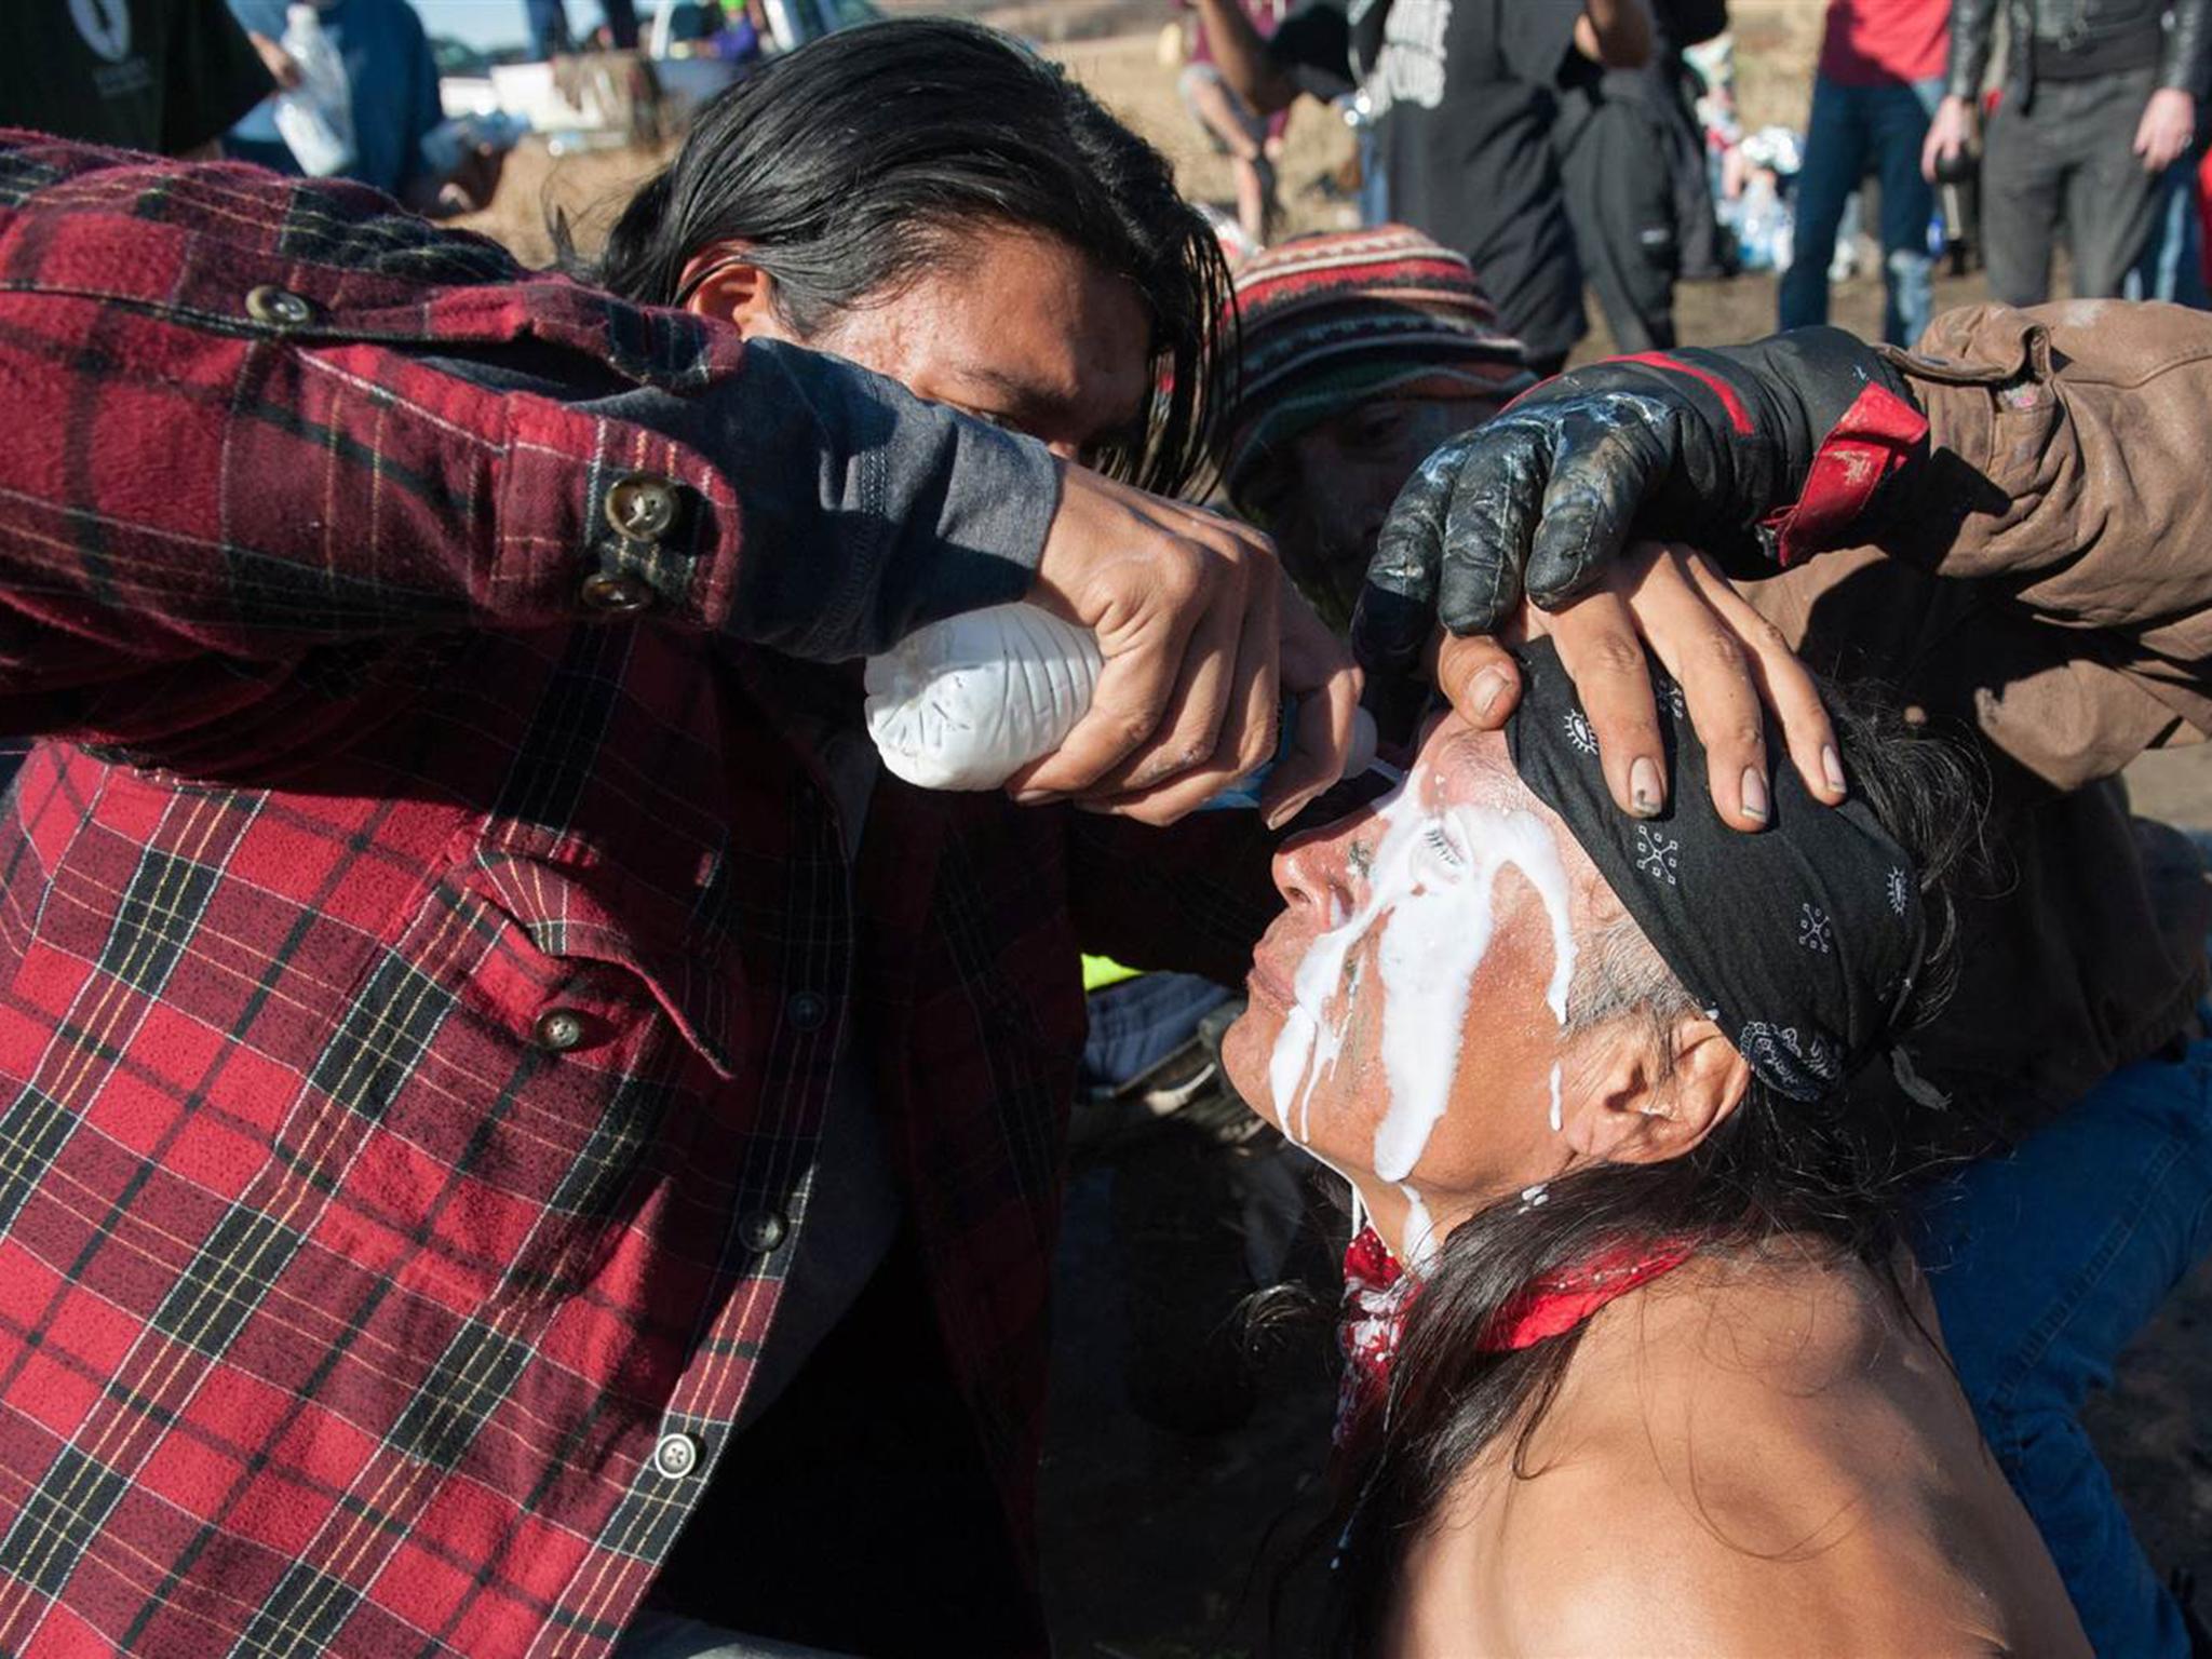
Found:
[[[1252,832],[885,779],[847,863],[849,677],[728,633],[761,502],[549,363],[752,372],[363,190],[0,139],[9,1655],[604,1652],[843,1042],[1024,1535],[1077,936],[1239,971]]]

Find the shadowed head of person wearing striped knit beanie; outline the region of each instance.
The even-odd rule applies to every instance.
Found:
[[[1237,270],[1234,305],[1241,372],[1221,425],[1223,489],[1343,628],[1407,473],[1535,374],[1467,259],[1407,226],[1270,248]]]

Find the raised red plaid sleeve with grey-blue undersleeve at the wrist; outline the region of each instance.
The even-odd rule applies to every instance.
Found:
[[[11,730],[128,739],[332,646],[639,611],[860,655],[1020,597],[1057,500],[1029,440],[358,186],[22,133],[0,387]]]

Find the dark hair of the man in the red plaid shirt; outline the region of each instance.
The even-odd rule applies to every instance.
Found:
[[[748,241],[805,338],[987,223],[1060,237],[1137,290],[1159,387],[1148,431],[1086,460],[1164,495],[1192,484],[1232,358],[1221,246],[1159,150],[991,29],[900,18],[776,58],[699,115],[597,261],[564,226],[555,241],[571,274],[648,305],[681,301],[703,248]]]

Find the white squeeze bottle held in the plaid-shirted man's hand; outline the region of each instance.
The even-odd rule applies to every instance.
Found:
[[[867,659],[867,734],[885,768],[922,790],[995,790],[1051,754],[1091,708],[1097,635],[1033,604],[995,604],[916,628]],[[1283,708],[1281,761],[1294,708]],[[1358,710],[1345,776],[1376,763],[1376,723]],[[1210,807],[1256,807],[1274,761]]]

